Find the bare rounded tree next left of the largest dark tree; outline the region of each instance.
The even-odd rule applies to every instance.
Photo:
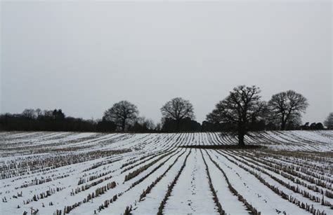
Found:
[[[179,123],[183,118],[195,119],[193,112],[193,106],[190,101],[185,100],[181,97],[176,97],[171,99],[171,101],[166,102],[161,108],[162,116],[164,118],[171,118],[176,120],[176,131],[179,131]]]

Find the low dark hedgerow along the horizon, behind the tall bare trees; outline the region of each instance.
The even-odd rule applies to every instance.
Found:
[[[333,121],[333,120],[332,120]],[[162,123],[138,118],[133,124],[127,125],[126,132],[230,132],[235,126],[229,123],[202,124],[191,118],[179,120],[177,128],[176,120],[163,118]],[[266,123],[265,120],[253,122],[249,126],[252,131],[280,130],[278,125]],[[332,127],[333,128],[333,127]],[[332,129],[331,128],[331,129]],[[286,130],[324,130],[322,123],[305,123],[304,125],[289,123]],[[40,109],[25,109],[22,113],[5,113],[0,115],[0,130],[6,131],[68,131],[68,132],[119,132],[121,128],[105,118],[101,120],[84,120],[65,116],[61,109],[53,111],[40,111]]]

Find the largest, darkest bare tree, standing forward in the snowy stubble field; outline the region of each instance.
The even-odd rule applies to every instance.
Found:
[[[207,115],[207,120],[236,125],[238,144],[244,146],[244,135],[247,134],[249,123],[254,118],[259,118],[265,109],[265,102],[260,101],[260,92],[255,85],[234,88],[226,99],[216,104],[215,109]]]

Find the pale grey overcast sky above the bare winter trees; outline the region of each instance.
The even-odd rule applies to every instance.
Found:
[[[198,121],[237,85],[296,90],[303,122],[333,111],[332,3],[1,2],[0,112],[101,118],[127,99],[157,122],[173,97]]]

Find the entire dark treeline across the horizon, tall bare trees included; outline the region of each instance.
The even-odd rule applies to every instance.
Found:
[[[323,130],[333,129],[333,113],[322,123],[301,123],[306,112],[306,97],[287,90],[261,100],[256,86],[240,85],[218,102],[202,124],[195,121],[190,101],[176,97],[160,109],[162,122],[155,123],[139,116],[138,107],[121,101],[107,109],[100,120],[84,120],[65,116],[61,109],[53,111],[25,109],[22,113],[0,115],[0,130],[71,131],[71,132],[235,132],[240,141],[248,131]]]

